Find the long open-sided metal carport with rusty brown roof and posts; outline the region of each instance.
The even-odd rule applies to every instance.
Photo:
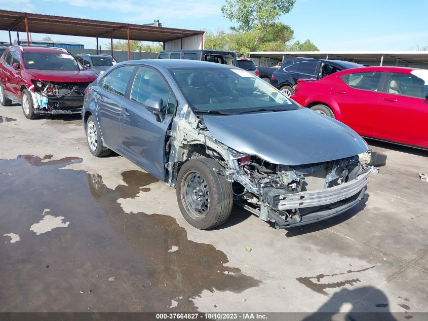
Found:
[[[9,41],[12,44],[11,31],[26,32],[27,44],[30,44],[29,32],[75,35],[110,39],[113,50],[113,39],[128,41],[128,60],[130,59],[130,40],[153,41],[164,43],[173,49],[203,49],[204,31],[175,29],[147,26],[141,24],[110,22],[81,18],[41,15],[26,12],[0,10],[0,30],[9,31]],[[188,44],[198,44],[199,48],[187,48]],[[187,46],[186,46],[187,44]],[[172,48],[171,48],[172,49]]]

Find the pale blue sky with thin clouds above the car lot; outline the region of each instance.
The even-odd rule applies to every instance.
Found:
[[[223,4],[212,0],[0,0],[0,8],[5,10],[128,23],[160,19],[165,27],[209,30],[232,25],[222,17]],[[417,45],[428,46],[427,12],[426,0],[297,0],[293,10],[280,20],[294,29],[295,40],[310,39],[324,51],[410,50]],[[34,40],[43,37],[32,34]],[[92,38],[51,37],[95,48]],[[9,41],[7,31],[0,31],[0,41]],[[102,48],[108,43],[100,40]]]

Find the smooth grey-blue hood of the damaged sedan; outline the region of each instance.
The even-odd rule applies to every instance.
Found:
[[[367,145],[348,126],[309,109],[204,115],[211,135],[228,147],[275,164],[303,165],[355,156]]]

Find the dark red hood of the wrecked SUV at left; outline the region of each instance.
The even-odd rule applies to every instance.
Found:
[[[25,70],[37,80],[61,83],[87,83],[97,79],[97,75],[89,70]]]

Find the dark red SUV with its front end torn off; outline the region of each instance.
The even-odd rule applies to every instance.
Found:
[[[0,58],[0,103],[21,103],[28,119],[79,114],[96,78],[65,49],[11,46]]]

